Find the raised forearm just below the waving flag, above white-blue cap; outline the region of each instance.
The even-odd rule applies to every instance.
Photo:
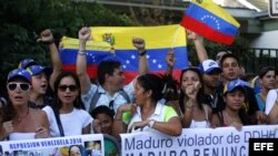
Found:
[[[208,60],[208,53],[203,46],[202,38],[190,30],[187,30],[187,38],[193,41],[199,62]]]

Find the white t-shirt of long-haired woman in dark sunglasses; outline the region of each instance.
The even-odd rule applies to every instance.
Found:
[[[50,119],[49,121],[50,136],[59,137],[60,131],[59,131],[59,127],[54,117],[54,112],[49,106],[46,106],[42,110],[48,114],[48,116],[51,116],[49,118]],[[60,114],[60,121],[62,123],[64,136],[81,135],[82,128],[91,124],[92,117],[85,110],[73,108],[73,111],[68,114]]]

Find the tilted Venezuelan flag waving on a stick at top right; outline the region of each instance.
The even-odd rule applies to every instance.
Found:
[[[185,11],[181,25],[199,35],[230,45],[239,23],[212,0],[191,0]]]

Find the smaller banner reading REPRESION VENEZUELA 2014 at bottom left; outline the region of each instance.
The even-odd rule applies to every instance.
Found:
[[[105,156],[101,134],[0,142],[3,156]]]

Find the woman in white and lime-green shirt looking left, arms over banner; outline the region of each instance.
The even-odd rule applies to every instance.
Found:
[[[156,74],[145,74],[137,79],[135,86],[135,104],[122,105],[118,108],[115,123],[113,135],[119,133],[152,131],[161,132],[172,136],[179,136],[182,131],[180,119],[171,106],[161,104],[165,82]],[[122,121],[125,112],[132,112],[128,123]]]

